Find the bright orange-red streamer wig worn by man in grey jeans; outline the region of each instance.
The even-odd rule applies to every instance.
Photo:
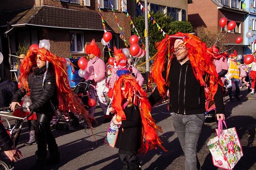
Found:
[[[166,88],[168,85],[168,75],[170,71],[171,61],[174,58],[174,53],[177,49],[174,48],[174,42],[176,39],[183,39],[185,46],[189,52],[189,59],[191,61],[191,66],[196,79],[198,79],[201,86],[205,86],[206,99],[213,101],[214,95],[218,88],[218,83],[223,84],[220,81],[218,73],[216,72],[213,59],[215,56],[209,53],[206,44],[202,42],[199,37],[194,34],[189,33],[176,33],[174,35],[166,35],[166,37],[159,43],[157,47],[157,52],[155,54],[155,60],[151,68],[151,78],[157,85],[157,89],[161,96],[165,96]],[[167,61],[166,61],[167,57]],[[168,62],[166,77],[162,76],[164,71],[165,62]],[[208,77],[203,78],[203,76],[208,73]],[[165,81],[166,79],[166,81]],[[209,86],[206,86],[206,80],[209,82]],[[150,82],[150,81],[149,81]]]

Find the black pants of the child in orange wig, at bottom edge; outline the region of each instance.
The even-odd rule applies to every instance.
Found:
[[[122,163],[122,169],[141,169],[140,162],[136,157],[137,151],[119,149],[118,153]]]

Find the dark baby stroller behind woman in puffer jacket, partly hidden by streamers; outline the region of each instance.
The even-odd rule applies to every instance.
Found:
[[[77,101],[80,102],[81,106],[86,109],[89,108],[88,101],[90,97],[89,93],[90,84],[88,82],[80,82],[73,89],[73,93],[76,95]],[[60,103],[59,109],[57,111],[57,124],[56,129],[62,130],[66,127],[66,131],[75,131],[75,129],[80,125],[87,128],[87,123],[85,117],[82,115],[77,115],[72,112],[66,113],[63,109],[63,103]]]

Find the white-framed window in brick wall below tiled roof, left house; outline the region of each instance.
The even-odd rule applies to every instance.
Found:
[[[82,32],[71,32],[70,33],[70,52],[71,53],[83,53],[84,41]]]

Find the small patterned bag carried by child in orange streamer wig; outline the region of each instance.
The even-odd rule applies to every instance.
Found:
[[[119,132],[119,126],[114,124],[112,121],[110,122],[109,129],[107,129],[107,134],[104,142],[109,144],[112,148],[115,147],[117,135]]]

